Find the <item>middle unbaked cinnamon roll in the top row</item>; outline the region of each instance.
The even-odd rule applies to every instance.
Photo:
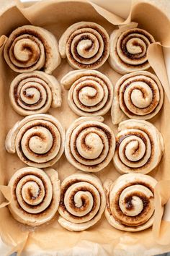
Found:
[[[78,22],[61,36],[59,51],[74,69],[98,69],[109,56],[109,35],[97,23]]]

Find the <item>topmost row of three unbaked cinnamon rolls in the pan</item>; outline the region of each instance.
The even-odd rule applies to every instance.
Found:
[[[147,50],[153,36],[138,23],[116,27],[109,34],[94,22],[77,22],[66,29],[58,41],[42,27],[24,25],[6,40],[4,59],[15,72],[42,69],[48,74],[67,59],[73,69],[98,69],[105,61],[120,74],[150,67]]]

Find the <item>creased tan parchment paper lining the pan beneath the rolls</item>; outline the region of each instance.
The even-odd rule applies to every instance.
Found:
[[[110,1],[112,3],[112,1]],[[4,140],[8,130],[14,123],[20,119],[14,112],[9,103],[9,85],[12,79],[16,77],[5,63],[3,58],[3,47],[6,36],[12,33],[14,28],[32,24],[45,27],[50,30],[57,39],[61,37],[66,28],[79,21],[97,22],[102,25],[110,34],[117,25],[128,22],[138,22],[139,27],[148,30],[157,42],[148,50],[148,59],[151,62],[153,70],[161,80],[166,92],[164,107],[161,113],[151,121],[161,131],[165,142],[165,153],[161,164],[156,170],[151,172],[158,181],[156,187],[156,218],[152,229],[139,231],[137,233],[128,233],[112,228],[107,223],[104,216],[95,226],[86,231],[70,232],[63,229],[58,224],[58,216],[50,223],[35,229],[28,228],[17,221],[14,221],[6,205],[10,202],[10,191],[6,185],[10,177],[18,168],[24,167],[24,163],[19,161],[17,155],[10,155],[4,149]],[[170,140],[169,140],[169,119],[170,103],[168,98],[169,81],[164,63],[164,56],[161,44],[164,48],[170,46],[170,22],[168,18],[156,7],[148,3],[138,3],[132,5],[130,15],[127,20],[117,17],[108,10],[91,4],[87,1],[41,1],[24,9],[22,4],[13,0],[0,0],[0,95],[1,95],[1,115],[0,115],[0,236],[4,247],[1,249],[1,255],[10,255],[17,251],[21,255],[156,255],[161,252],[170,250],[170,222],[161,221],[164,213],[162,205],[170,197]],[[64,74],[71,70],[71,67],[64,59],[58,69],[53,72],[55,77],[60,81]],[[99,71],[106,74],[113,85],[120,78],[109,67],[106,62]],[[50,114],[57,117],[63,127],[68,128],[69,124],[78,116],[68,108],[67,103],[68,91],[63,89],[63,103],[61,108],[50,110]],[[110,113],[104,116],[104,122],[109,124],[113,131],[117,132],[117,126],[111,123]],[[73,174],[76,169],[66,161],[65,156],[53,166],[58,170],[61,181]],[[120,174],[117,173],[112,163],[107,168],[99,171],[97,176],[104,182],[105,179],[115,180]],[[169,180],[169,181],[168,181]],[[168,215],[168,214],[166,214]]]

